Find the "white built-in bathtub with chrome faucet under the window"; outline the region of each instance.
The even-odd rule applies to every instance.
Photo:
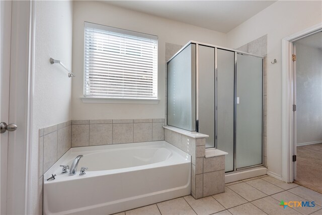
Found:
[[[78,155],[76,175],[61,174]],[[71,148],[44,174],[44,214],[116,213],[189,195],[190,184],[191,156],[166,141]]]

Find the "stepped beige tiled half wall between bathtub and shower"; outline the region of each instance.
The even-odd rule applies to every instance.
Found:
[[[225,191],[225,157],[205,158],[204,136],[165,126],[165,140],[191,155],[191,195],[196,199]]]

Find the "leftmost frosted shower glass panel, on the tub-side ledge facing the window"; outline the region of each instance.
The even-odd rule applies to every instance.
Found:
[[[168,125],[196,130],[196,45],[168,62]]]

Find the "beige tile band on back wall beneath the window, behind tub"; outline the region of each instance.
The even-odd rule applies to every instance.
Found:
[[[72,120],[71,147],[164,140],[165,119]]]

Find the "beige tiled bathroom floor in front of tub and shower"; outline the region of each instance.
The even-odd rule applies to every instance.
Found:
[[[281,200],[314,201],[314,207],[279,206]],[[297,184],[260,176],[226,184],[225,192],[201,199],[191,195],[117,213],[128,214],[312,214],[322,215],[322,194]]]

